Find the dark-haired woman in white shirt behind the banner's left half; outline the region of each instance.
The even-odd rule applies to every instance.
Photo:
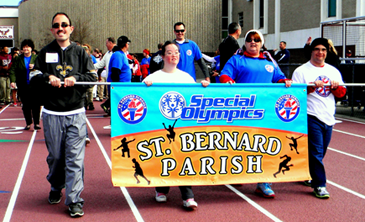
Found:
[[[162,46],[162,59],[164,61],[163,69],[152,73],[143,80],[147,86],[151,86],[153,82],[195,83],[193,77],[188,73],[177,69],[177,64],[180,60],[180,48],[176,43],[165,42]],[[204,87],[209,85],[209,82],[206,80],[203,80],[201,83]],[[179,188],[183,199],[183,206],[185,208],[196,209],[198,204],[194,200],[191,186],[180,186]],[[156,201],[166,202],[166,195],[169,190],[170,187],[156,187]]]

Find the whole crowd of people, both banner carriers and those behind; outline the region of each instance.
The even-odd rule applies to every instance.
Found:
[[[38,55],[32,53],[34,43],[25,39],[21,52],[14,50],[8,54],[7,47],[0,53],[1,103],[16,106],[17,99],[11,97],[10,89],[18,91],[23,104],[26,121],[25,130],[31,124],[39,130],[40,106],[43,106],[43,129],[48,150],[47,163],[50,183],[48,202],[60,203],[62,189],[65,188],[65,204],[72,217],[84,215],[84,155],[87,142],[85,110],[94,110],[93,82],[144,82],[147,86],[154,82],[196,83],[196,62],[203,72],[203,87],[215,83],[282,83],[290,87],[294,83],[313,83],[308,86],[308,152],[312,181],[307,181],[318,198],[329,198],[326,189],[326,175],[323,158],[331,140],[334,121],[334,98],[346,93],[341,74],[327,63],[333,45],[324,38],[308,39],[305,55],[308,62],[297,68],[289,79],[285,66],[290,53],[286,42],[280,43],[280,51],[270,54],[264,47],[264,36],[258,30],[250,30],[245,43],[239,46],[237,39],[241,27],[233,22],[229,25],[229,35],[217,47],[217,55],[212,58],[202,54],[199,46],[185,37],[187,27],[182,22],[173,26],[175,39],[158,44],[158,52],[151,54],[143,50],[143,59],[129,53],[132,40],[127,36],[106,39],[107,52],[94,50],[87,43],[77,44],[70,40],[74,30],[71,19],[65,13],[56,13],[52,18],[51,32],[55,38],[42,48]],[[276,51],[276,50],[275,50]],[[209,73],[204,59],[215,63]],[[331,64],[331,65],[330,65]],[[324,79],[330,86],[324,86]],[[75,85],[75,82],[90,82],[90,85]],[[63,84],[61,84],[63,82]],[[227,85],[229,88],[229,85]],[[109,88],[109,89],[107,89]],[[102,101],[103,110],[110,115],[110,87],[97,86],[96,100]],[[42,95],[42,96],[40,96]],[[181,186],[183,206],[197,208],[191,186]],[[157,202],[166,202],[169,187],[156,188]],[[275,197],[268,183],[258,183],[255,192],[266,198]]]

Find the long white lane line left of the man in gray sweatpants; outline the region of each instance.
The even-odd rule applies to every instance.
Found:
[[[29,156],[30,156],[30,153],[32,151],[32,147],[33,147],[36,135],[37,135],[37,130],[34,130],[32,138],[30,139],[30,142],[29,142],[29,145],[28,145],[28,148],[27,148],[27,152],[25,153],[25,156],[24,156],[22,167],[20,168],[20,171],[19,171],[18,179],[16,180],[14,190],[11,194],[10,201],[9,201],[9,204],[8,204],[8,208],[6,209],[6,213],[5,213],[3,222],[10,221],[11,215],[13,214],[15,202],[16,202],[16,199],[17,199],[18,194],[19,194],[20,185],[22,184],[22,181],[23,181],[25,169],[27,168]]]

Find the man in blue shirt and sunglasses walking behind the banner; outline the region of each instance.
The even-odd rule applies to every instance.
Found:
[[[185,24],[182,22],[175,23],[174,33],[176,39],[173,42],[177,43],[180,47],[180,61],[177,68],[189,73],[196,81],[194,65],[194,61],[196,61],[204,74],[205,80],[210,82],[208,68],[203,60],[199,46],[194,41],[185,39]]]

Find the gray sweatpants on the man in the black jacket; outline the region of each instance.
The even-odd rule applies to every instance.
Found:
[[[51,190],[66,188],[66,205],[83,203],[80,194],[84,189],[85,113],[69,116],[43,113],[43,129]]]

